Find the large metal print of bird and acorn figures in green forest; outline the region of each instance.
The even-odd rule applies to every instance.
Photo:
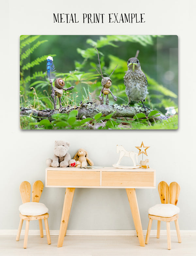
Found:
[[[176,35],[22,35],[21,129],[177,129]]]

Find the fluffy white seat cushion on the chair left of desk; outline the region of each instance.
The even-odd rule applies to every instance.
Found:
[[[19,206],[19,211],[25,216],[39,216],[48,212],[45,204],[37,202],[28,202]]]

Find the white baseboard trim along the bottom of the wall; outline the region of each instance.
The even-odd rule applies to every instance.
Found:
[[[0,235],[17,235],[18,230],[0,230]],[[21,230],[21,235],[24,235],[25,230]],[[143,230],[143,234],[146,235],[147,230]],[[176,230],[171,230],[171,235],[176,235]],[[29,235],[39,235],[40,230],[29,230]],[[43,230],[43,234],[46,235],[46,231]],[[59,230],[50,230],[50,235],[58,235]],[[180,230],[181,235],[196,235],[196,230]],[[66,235],[128,235],[135,236],[136,230],[67,230]],[[150,235],[155,236],[156,230],[151,230]],[[160,230],[160,235],[167,235],[167,230]]]

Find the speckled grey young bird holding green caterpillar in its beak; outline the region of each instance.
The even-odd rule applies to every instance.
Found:
[[[148,81],[145,74],[141,71],[140,63],[137,58],[130,58],[127,62],[128,70],[124,76],[125,93],[128,97],[129,103],[131,101],[142,103],[142,108],[146,108],[143,104],[146,95],[148,94]]]

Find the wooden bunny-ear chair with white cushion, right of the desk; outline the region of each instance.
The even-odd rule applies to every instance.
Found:
[[[180,230],[178,225],[178,214],[180,209],[176,206],[178,202],[178,196],[180,194],[180,186],[177,182],[170,183],[161,181],[158,184],[158,192],[161,199],[161,204],[157,204],[148,210],[149,224],[146,234],[145,244],[148,244],[150,230],[153,220],[157,220],[157,238],[160,237],[160,224],[161,221],[166,221],[167,224],[167,243],[168,250],[171,249],[171,237],[170,237],[170,221],[175,222],[178,242],[181,243]]]

